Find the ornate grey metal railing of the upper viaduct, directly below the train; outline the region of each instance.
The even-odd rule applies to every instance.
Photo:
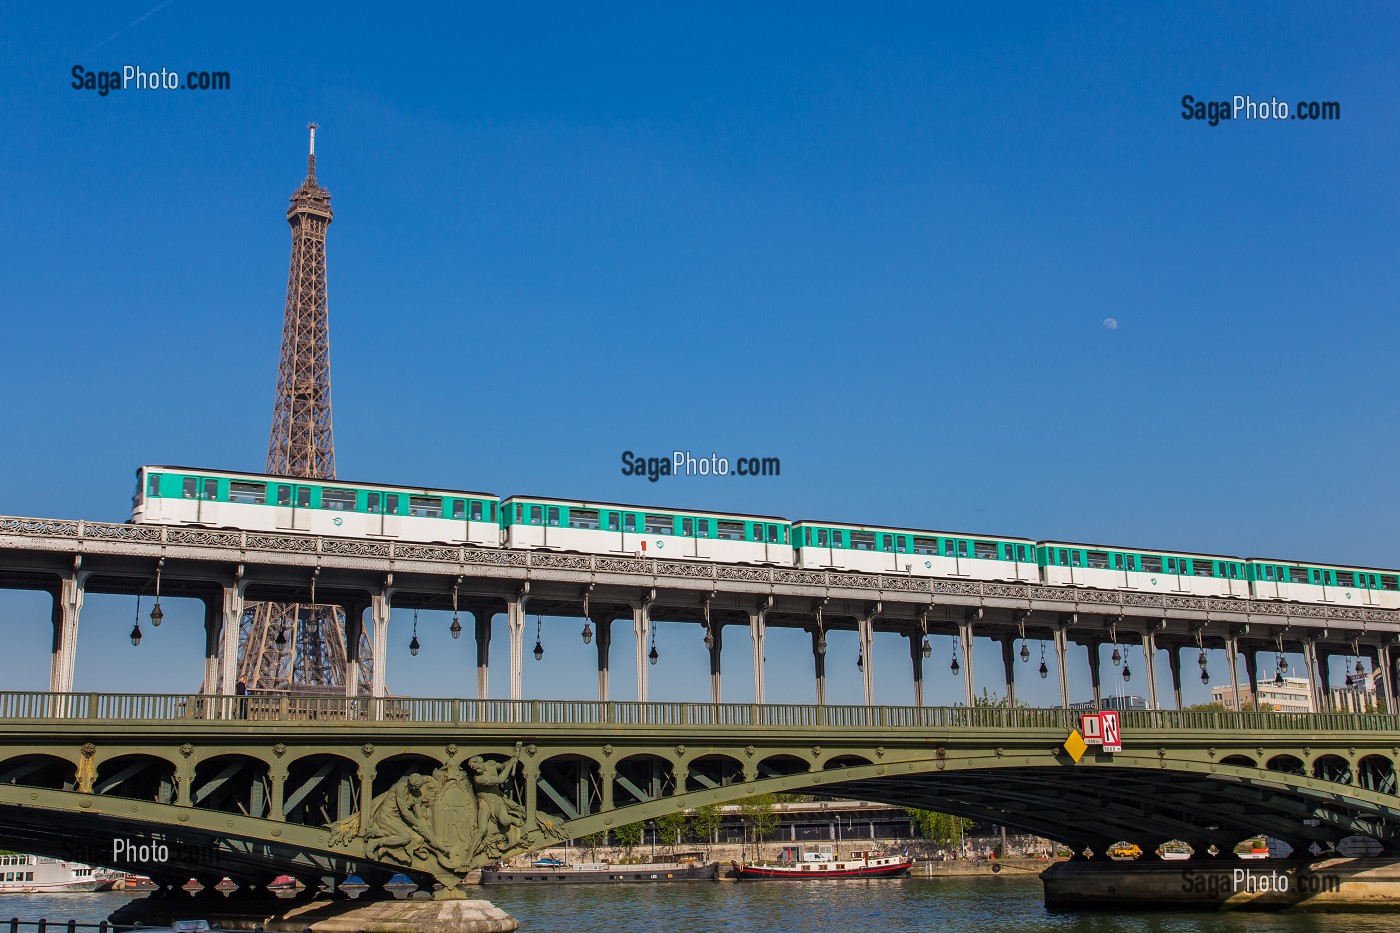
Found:
[[[591,574],[629,574],[650,579],[685,579],[722,588],[725,583],[823,587],[833,591],[909,593],[930,597],[967,597],[977,600],[1014,600],[1102,605],[1124,615],[1142,615],[1154,609],[1183,609],[1196,612],[1247,614],[1330,619],[1338,622],[1400,623],[1400,612],[1359,605],[1329,605],[1312,602],[1271,602],[1267,600],[1191,597],[1158,593],[1121,593],[1084,587],[1044,586],[1040,583],[991,583],[980,580],[942,580],[899,573],[829,573],[825,570],[795,570],[790,567],[755,567],[704,560],[671,560],[655,558],[623,558],[603,555],[553,553],[510,548],[475,548],[455,545],[421,545],[398,541],[370,541],[361,538],[326,538],[305,534],[273,534],[260,531],[225,531],[216,528],[181,528],[175,525],[132,525],[101,521],[59,521],[50,518],[0,517],[0,537],[11,535],[34,541],[71,541],[80,546],[94,544],[151,545],[167,548],[196,548],[237,552],[239,559],[249,553],[287,556],[326,556],[386,562],[430,562],[455,567],[496,567],[522,572],[556,570]],[[210,555],[214,556],[213,553]]]

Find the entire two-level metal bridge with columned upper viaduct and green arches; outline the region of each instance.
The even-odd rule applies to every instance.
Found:
[[[1103,852],[1184,839],[1229,850],[1268,834],[1295,848],[1347,835],[1394,848],[1400,614],[1344,601],[1292,604],[1019,583],[410,545],[393,541],[0,518],[0,587],[53,595],[50,691],[0,693],[0,845],[71,855],[160,839],[165,883],[291,873],[330,884],[406,870],[451,883],[559,838],[707,803],[806,792],[937,808]],[[195,695],[73,691],[87,593],[192,597],[204,605]],[[349,642],[371,626],[370,696],[227,696],[245,601],[339,604]],[[476,699],[386,696],[391,608],[470,616]],[[598,651],[598,702],[521,696],[526,614],[575,616]],[[490,700],[493,619],[505,618],[510,700]],[[612,630],[631,622],[637,703],[609,702]],[[650,703],[655,622],[693,625],[708,649],[710,703]],[[816,700],[764,703],[770,628],[811,635]],[[756,703],[722,703],[728,632],[753,646]],[[865,703],[827,705],[826,635],[860,639]],[[907,639],[917,705],[875,705],[876,633]],[[966,703],[923,706],[924,644],[952,635]],[[976,705],[972,647],[993,639],[1011,705]],[[1016,642],[1053,643],[1060,709],[1015,705]],[[232,640],[232,643],[230,643]],[[882,643],[888,642],[883,639]],[[224,650],[220,651],[220,644]],[[1095,699],[1107,644],[1165,653],[1144,665],[1149,710],[1121,714],[1124,747],[1078,762],[1063,744],[1067,654],[1088,653]],[[1217,713],[1180,707],[1182,657],[1224,649],[1236,696],[1260,653],[1302,653],[1315,706],[1329,658],[1366,657],[1379,712]],[[224,668],[217,663],[224,658]],[[356,658],[350,658],[353,664]],[[888,678],[888,674],[882,675]],[[354,677],[346,682],[353,685]],[[351,686],[353,689],[353,686]],[[101,859],[94,859],[101,862]]]

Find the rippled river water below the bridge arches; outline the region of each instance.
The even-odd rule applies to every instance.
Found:
[[[1035,878],[490,887],[528,933],[1400,933],[1393,913],[1050,913]],[[97,923],[125,894],[3,895],[0,922]],[[3,929],[3,927],[0,927]],[[32,929],[32,927],[31,927]]]

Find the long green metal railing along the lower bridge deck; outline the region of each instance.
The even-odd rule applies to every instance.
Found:
[[[368,723],[424,726],[714,727],[1063,730],[1082,710],[1005,706],[798,706],[759,703],[598,703],[591,700],[477,700],[370,696],[211,696],[185,693],[0,692],[0,721],[88,720],[104,723]],[[1358,733],[1400,731],[1386,713],[1273,713],[1225,710],[1123,710],[1126,730]]]

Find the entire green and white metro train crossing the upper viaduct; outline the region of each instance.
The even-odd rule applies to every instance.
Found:
[[[132,521],[1400,609],[1373,567],[192,466],[137,469]]]

